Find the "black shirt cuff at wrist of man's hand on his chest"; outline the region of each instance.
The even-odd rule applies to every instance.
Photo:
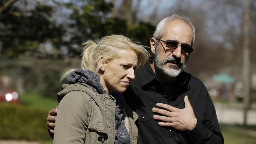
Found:
[[[204,127],[201,121],[197,120],[196,126],[193,130],[188,131],[185,135],[191,140],[194,144],[202,143],[206,139],[208,134],[208,129]]]

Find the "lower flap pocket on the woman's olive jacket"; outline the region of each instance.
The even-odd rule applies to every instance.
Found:
[[[86,131],[84,144],[103,144],[104,140],[106,140],[106,137],[107,136],[105,133],[88,129]]]

